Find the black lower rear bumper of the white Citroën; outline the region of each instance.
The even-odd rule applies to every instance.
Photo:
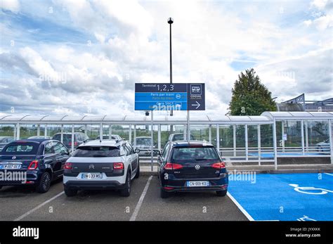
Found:
[[[118,181],[67,181],[64,186],[74,190],[122,189]]]

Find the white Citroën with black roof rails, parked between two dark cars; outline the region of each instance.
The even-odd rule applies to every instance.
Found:
[[[74,151],[65,164],[65,194],[73,196],[82,189],[120,190],[131,193],[131,180],[140,175],[138,150],[128,141],[89,141]]]

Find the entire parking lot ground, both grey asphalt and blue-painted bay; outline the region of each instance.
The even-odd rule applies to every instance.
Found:
[[[0,190],[1,220],[101,221],[332,221],[333,174],[256,174],[255,181],[229,182],[226,197],[176,193],[159,197],[157,176],[132,181],[129,198],[117,191],[79,191],[68,198],[61,180],[47,193],[29,187]]]

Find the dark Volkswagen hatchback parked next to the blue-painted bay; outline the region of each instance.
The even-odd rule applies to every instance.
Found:
[[[216,148],[202,141],[177,141],[164,146],[158,157],[162,198],[176,191],[216,191],[225,196],[228,172]]]

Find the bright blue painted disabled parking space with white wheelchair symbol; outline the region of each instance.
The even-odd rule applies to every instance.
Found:
[[[228,191],[254,220],[333,221],[333,173],[256,174]]]

